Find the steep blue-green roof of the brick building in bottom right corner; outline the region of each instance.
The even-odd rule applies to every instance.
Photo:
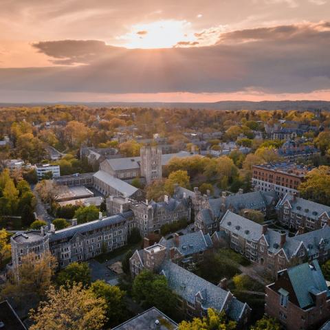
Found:
[[[294,293],[298,299],[299,307],[305,308],[314,305],[312,294],[327,292],[330,298],[330,291],[327,283],[318,265],[318,261],[314,260],[309,263],[303,263],[287,270],[289,280],[294,288]]]

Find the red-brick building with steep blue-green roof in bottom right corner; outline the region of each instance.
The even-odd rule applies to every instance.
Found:
[[[319,329],[330,318],[330,291],[318,261],[278,272],[266,286],[265,313],[287,330]]]

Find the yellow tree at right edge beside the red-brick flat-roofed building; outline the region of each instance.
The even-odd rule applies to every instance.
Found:
[[[300,196],[317,203],[330,205],[330,166],[314,168],[298,186]]]

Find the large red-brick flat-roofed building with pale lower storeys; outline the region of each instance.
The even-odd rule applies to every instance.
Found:
[[[254,190],[275,190],[279,196],[287,192],[297,192],[297,188],[304,181],[311,170],[291,162],[278,162],[254,165],[252,168],[252,184]]]

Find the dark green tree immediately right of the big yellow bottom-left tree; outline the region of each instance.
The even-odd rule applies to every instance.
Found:
[[[119,287],[114,285],[109,285],[104,281],[95,281],[90,287],[91,292],[97,298],[102,298],[105,300],[107,306],[107,318],[111,325],[118,323],[119,320],[124,316],[124,295],[125,292]]]

